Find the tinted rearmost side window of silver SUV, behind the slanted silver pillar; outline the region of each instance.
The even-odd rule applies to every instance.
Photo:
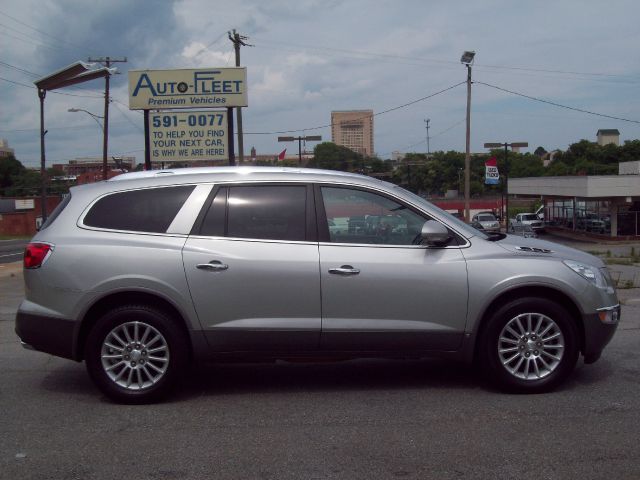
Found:
[[[149,188],[118,192],[98,200],[84,217],[88,227],[164,233],[195,188]]]

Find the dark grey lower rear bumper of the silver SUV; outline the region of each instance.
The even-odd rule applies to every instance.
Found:
[[[16,314],[16,334],[26,348],[73,359],[76,322],[20,312]]]

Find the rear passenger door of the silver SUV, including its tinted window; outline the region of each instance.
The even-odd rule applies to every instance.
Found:
[[[211,348],[316,349],[320,276],[311,187],[224,186],[205,209],[183,259]]]

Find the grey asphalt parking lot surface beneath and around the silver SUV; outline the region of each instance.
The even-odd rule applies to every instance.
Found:
[[[207,365],[158,405],[108,402],[84,365],[22,349],[0,265],[0,478],[640,478],[640,289],[603,357],[507,395],[440,360]]]

